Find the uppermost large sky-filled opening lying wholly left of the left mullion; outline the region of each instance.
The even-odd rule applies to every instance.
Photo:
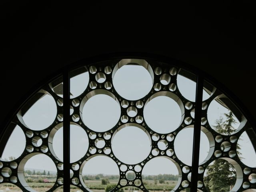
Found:
[[[56,114],[57,106],[54,98],[45,94],[29,108],[22,118],[28,128],[42,130],[54,122]]]

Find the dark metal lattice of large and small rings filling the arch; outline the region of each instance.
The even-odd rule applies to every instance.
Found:
[[[116,71],[126,64],[141,65],[148,70],[154,83],[150,92],[148,92],[148,94],[143,98],[138,100],[127,100],[120,96],[120,94],[115,90],[113,86],[113,77]],[[179,179],[172,192],[180,192],[190,188],[191,183],[190,180],[188,180],[188,175],[191,173],[193,167],[184,164],[179,160],[174,150],[174,140],[176,139],[176,135],[184,128],[194,127],[194,116],[192,116],[192,113],[194,113],[196,103],[184,98],[179,90],[179,86],[177,85],[178,72],[182,73],[184,76],[187,76],[189,73],[176,65],[172,66],[172,64],[164,64],[154,60],[142,59],[122,59],[119,61],[112,60],[89,64],[84,66],[83,70],[81,70],[81,68],[79,68],[79,70],[73,70],[73,76],[88,71],[89,84],[80,96],[70,99],[70,108],[72,109],[72,113],[70,113],[70,124],[78,125],[86,131],[89,139],[89,147],[86,154],[80,160],[66,166],[65,164],[63,165],[63,162],[58,159],[54,153],[52,140],[57,130],[63,126],[63,120],[65,120],[63,119],[63,80],[62,77],[56,78],[54,81],[43,86],[40,91],[38,91],[26,102],[26,104],[24,104],[24,106],[22,106],[6,129],[6,134],[3,136],[3,138],[6,139],[2,139],[2,146],[5,145],[8,136],[15,126],[18,125],[22,128],[26,136],[26,147],[24,152],[17,159],[10,162],[6,162],[4,160],[0,161],[0,183],[11,183],[18,186],[22,191],[32,191],[32,188],[28,186],[24,179],[24,165],[32,156],[36,154],[45,154],[52,159],[58,170],[56,182],[49,191],[54,191],[63,186],[63,168],[69,168],[74,172],[73,176],[70,178],[70,184],[77,186],[82,191],[90,191],[82,179],[82,169],[86,164],[86,161],[90,160],[90,158],[97,155],[104,155],[116,162],[120,171],[120,180],[113,191],[117,191],[125,186],[135,186],[140,188],[142,191],[148,191],[142,181],[142,170],[149,160],[158,156],[163,156],[174,162],[178,168]],[[72,74],[72,72],[70,73]],[[210,142],[210,150],[207,158],[199,165],[198,168],[198,190],[206,191],[203,180],[204,172],[207,166],[218,158],[227,160],[236,169],[237,179],[232,191],[242,192],[246,189],[255,189],[256,168],[248,167],[243,164],[236,152],[238,138],[244,131],[248,133],[254,132],[252,126],[248,123],[246,118],[244,118],[243,114],[234,106],[234,104],[230,102],[222,92],[220,92],[220,90],[216,89],[206,81],[204,82],[204,90],[208,92],[210,96],[202,103],[201,130],[206,134]],[[56,102],[56,118],[49,127],[43,130],[31,130],[24,123],[22,116],[39,98],[45,94],[52,96]],[[120,105],[121,109],[118,122],[114,127],[110,128],[106,132],[97,132],[96,130],[88,128],[82,118],[84,105],[88,99],[97,94],[105,94],[112,97]],[[152,130],[145,121],[144,107],[148,102],[150,102],[150,100],[158,96],[167,96],[172,98],[177,102],[182,112],[180,125],[172,132],[164,134],[159,133],[156,130]],[[234,134],[219,134],[208,123],[207,110],[213,100],[217,100],[220,104],[232,110],[240,121],[240,126]],[[133,114],[131,115],[130,112],[133,112]],[[172,122],[170,122],[170,124],[171,123]],[[150,138],[151,151],[148,156],[138,164],[126,164],[120,161],[112,151],[112,139],[118,131],[127,126],[135,126],[143,130]],[[253,136],[250,139],[255,140]],[[38,145],[38,140],[42,140],[42,144]],[[103,147],[98,146],[99,141],[104,141]],[[166,148],[159,148],[159,142],[163,142]],[[136,176],[133,180],[126,177],[126,173],[128,171],[135,173]],[[249,175],[253,176],[252,180],[249,180]]]

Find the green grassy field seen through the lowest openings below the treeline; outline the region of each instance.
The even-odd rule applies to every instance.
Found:
[[[118,180],[109,180],[110,184],[117,184]],[[170,191],[176,186],[176,181],[168,181],[166,180],[165,183],[160,184],[159,181],[157,181],[157,184],[155,183],[154,180],[144,180],[144,185],[147,190],[150,192],[164,192],[164,191]],[[102,185],[101,180],[86,180],[85,184],[88,188],[90,188],[94,192],[105,192],[105,188],[107,185]],[[46,192],[49,190],[54,183],[38,183],[38,182],[30,182],[28,185],[38,191],[38,192]],[[12,184],[2,184],[0,186],[0,192],[21,192],[21,190]],[[80,188],[77,188],[76,186],[71,186],[70,187],[70,192],[79,192]],[[139,188],[134,188],[134,187],[124,187],[125,192],[141,192]],[[63,192],[63,190],[60,188],[56,190],[55,192]]]

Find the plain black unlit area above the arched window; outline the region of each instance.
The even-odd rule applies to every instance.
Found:
[[[256,17],[246,1],[40,2],[0,3],[1,124],[64,66],[120,52],[159,54],[195,66],[256,119]]]

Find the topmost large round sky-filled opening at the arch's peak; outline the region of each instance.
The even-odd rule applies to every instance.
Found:
[[[140,65],[124,65],[113,78],[115,90],[128,100],[138,100],[152,88],[152,78],[146,68]]]

